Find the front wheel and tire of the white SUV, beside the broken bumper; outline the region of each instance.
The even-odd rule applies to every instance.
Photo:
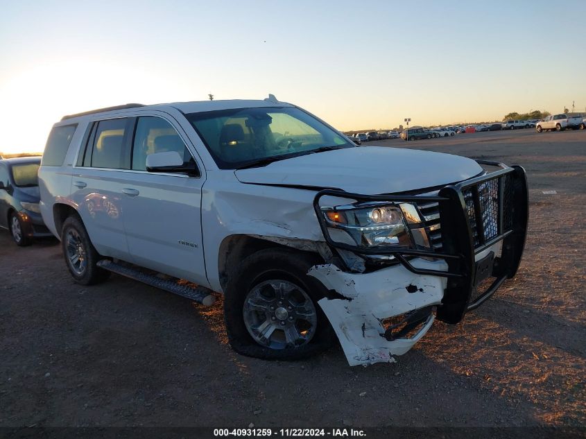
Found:
[[[327,349],[334,332],[318,305],[327,292],[306,274],[319,263],[310,253],[288,248],[247,257],[225,291],[232,349],[266,360],[298,360]]]

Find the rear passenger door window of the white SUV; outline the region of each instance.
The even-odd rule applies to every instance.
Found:
[[[129,169],[130,150],[125,141],[127,122],[126,118],[99,121],[94,126],[91,154],[87,157],[86,152],[85,163],[89,162],[94,168]]]

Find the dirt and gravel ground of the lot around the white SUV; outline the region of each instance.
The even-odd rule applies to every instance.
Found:
[[[350,368],[340,347],[250,359],[227,345],[220,303],[117,275],[80,286],[57,241],[17,248],[2,231],[0,427],[585,426],[586,131],[379,144],[528,171],[517,277],[463,322],[436,322],[397,363]]]

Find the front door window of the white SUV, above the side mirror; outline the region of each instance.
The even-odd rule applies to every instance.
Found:
[[[187,146],[171,123],[160,117],[139,117],[132,144],[132,169],[146,171],[146,156],[169,151],[177,152],[183,164],[194,162]]]

